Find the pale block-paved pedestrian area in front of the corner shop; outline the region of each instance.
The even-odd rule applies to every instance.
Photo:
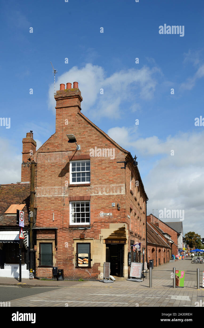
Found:
[[[173,267],[185,270],[184,288],[173,289]],[[196,268],[200,268],[200,289],[196,287]],[[142,282],[127,280],[105,284],[99,281],[60,281],[64,288],[36,293],[13,299],[11,307],[195,307],[204,302],[201,275],[204,265],[191,264],[190,259],[167,263],[152,271],[152,288],[149,279]],[[9,279],[9,278],[8,278]],[[26,280],[26,279],[25,279]],[[33,280],[31,280],[33,281]],[[29,282],[29,281],[28,281]],[[40,283],[59,284],[59,281],[38,280]],[[70,285],[70,283],[72,285]],[[1,278],[0,278],[1,284]],[[198,302],[198,303],[196,303]],[[204,303],[203,303],[204,304]]]

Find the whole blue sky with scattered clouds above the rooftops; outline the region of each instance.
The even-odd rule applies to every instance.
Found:
[[[55,132],[52,61],[56,90],[78,81],[82,113],[138,156],[148,212],[184,209],[184,232],[200,231],[204,127],[194,122],[204,116],[203,14],[200,0],[3,2],[0,116],[11,126],[0,127],[1,183],[20,180],[26,132],[38,146]],[[159,34],[164,24],[184,26],[184,36]]]

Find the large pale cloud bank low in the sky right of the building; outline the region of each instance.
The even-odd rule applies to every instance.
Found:
[[[184,210],[184,233],[195,231],[204,236],[204,133],[180,133],[166,140],[152,136],[136,141],[136,134],[126,127],[112,128],[108,134],[125,149],[132,147],[138,154],[138,160],[142,156],[143,161],[151,158],[149,173],[143,178],[149,198],[147,213],[158,208],[154,211],[158,216],[159,210],[165,207]],[[171,150],[174,150],[174,156],[171,156]]]

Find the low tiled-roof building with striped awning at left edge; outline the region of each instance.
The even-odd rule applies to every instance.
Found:
[[[19,225],[16,210],[24,212],[22,278],[29,278],[29,206],[30,183],[0,185],[0,277],[19,278]]]

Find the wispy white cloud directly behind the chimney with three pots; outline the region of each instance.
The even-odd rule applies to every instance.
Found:
[[[73,67],[68,72],[59,76],[56,82],[56,90],[59,84],[67,82],[78,82],[82,97],[82,112],[93,117],[113,117],[120,118],[123,102],[131,102],[132,111],[140,109],[139,99],[150,100],[155,92],[155,74],[161,74],[160,69],[154,67],[142,67],[141,69],[129,69],[115,72],[107,77],[102,67],[86,64],[83,68]],[[100,94],[100,89],[104,89],[104,94]],[[137,95],[137,96],[136,96]],[[137,103],[137,107],[133,104]],[[54,86],[49,87],[48,94],[49,108],[55,113],[56,101],[54,99]]]

